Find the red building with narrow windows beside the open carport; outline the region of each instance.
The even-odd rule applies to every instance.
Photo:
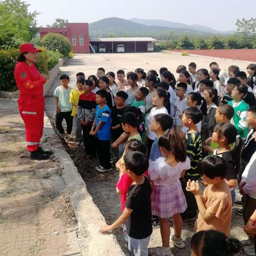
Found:
[[[50,32],[67,37],[74,53],[90,53],[88,23],[67,23],[65,28],[39,28],[41,38]]]

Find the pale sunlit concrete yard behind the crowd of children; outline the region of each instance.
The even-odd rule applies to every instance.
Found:
[[[180,54],[171,53],[106,53],[106,54],[76,54],[73,59],[69,60],[68,67],[61,67],[61,71],[68,74],[70,72],[84,72],[86,78],[89,75],[95,75],[99,67],[103,67],[106,72],[123,69],[125,73],[134,71],[135,68],[143,68],[145,72],[155,69],[157,72],[161,67],[167,67],[176,77],[176,68],[179,65],[188,67],[190,62],[195,62],[197,68],[209,69],[209,64],[217,61],[223,70],[228,70],[231,65],[237,65],[241,70],[246,71],[247,62],[222,59],[211,59],[204,57],[181,56]],[[71,74],[71,73],[70,73]],[[158,73],[159,74],[159,73]],[[75,77],[72,74],[73,82]],[[117,78],[116,78],[117,79]]]

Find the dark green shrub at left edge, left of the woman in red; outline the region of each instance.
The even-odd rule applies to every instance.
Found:
[[[19,53],[18,49],[0,50],[0,91],[17,90],[14,68]]]

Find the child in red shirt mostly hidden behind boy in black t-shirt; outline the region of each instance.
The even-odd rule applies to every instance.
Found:
[[[139,140],[131,139],[126,143],[126,153],[131,151],[139,151],[143,154],[146,154],[147,147]],[[120,178],[116,183],[116,192],[120,195],[122,212],[125,209],[125,202],[127,198],[127,192],[133,182],[132,178],[129,177],[123,170],[120,170]],[[144,173],[145,176],[148,177],[148,170]]]

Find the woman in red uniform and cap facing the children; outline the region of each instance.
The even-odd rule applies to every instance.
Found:
[[[40,74],[34,63],[37,61],[34,44],[22,44],[14,76],[20,97],[18,99],[20,115],[25,123],[27,150],[30,158],[37,160],[48,159],[50,152],[39,147],[44,127],[44,95],[43,84],[47,76]]]

